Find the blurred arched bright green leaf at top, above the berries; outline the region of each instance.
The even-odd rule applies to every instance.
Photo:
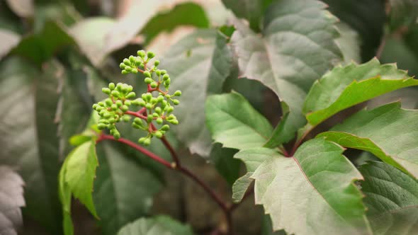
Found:
[[[147,37],[145,44],[148,44],[159,33],[164,31],[171,32],[174,28],[181,25],[209,28],[209,19],[206,16],[205,9],[192,2],[177,4],[169,11],[159,12],[152,17],[140,33]]]

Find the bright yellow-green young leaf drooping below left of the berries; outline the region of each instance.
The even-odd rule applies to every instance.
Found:
[[[83,203],[91,214],[98,217],[92,196],[97,166],[95,139],[84,142],[71,151],[62,165],[59,176],[59,193],[65,235],[72,235],[74,231],[71,219],[72,195]]]

